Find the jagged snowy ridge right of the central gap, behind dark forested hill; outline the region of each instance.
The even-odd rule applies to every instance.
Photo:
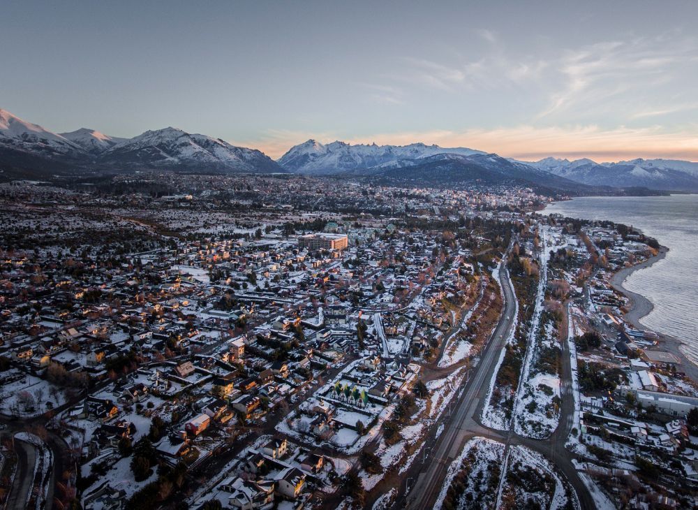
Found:
[[[315,140],[291,147],[279,158],[279,164],[294,173],[325,175],[361,168],[390,168],[408,166],[410,161],[436,154],[484,154],[482,151],[457,147],[447,149],[438,145],[350,145],[335,141],[324,145]],[[403,163],[401,163],[403,162]]]

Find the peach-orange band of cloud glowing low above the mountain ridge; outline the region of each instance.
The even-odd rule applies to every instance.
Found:
[[[315,138],[322,143],[344,140],[348,143],[408,145],[415,142],[436,143],[442,147],[470,147],[496,152],[501,156],[527,161],[547,156],[580,158],[597,161],[620,161],[636,157],[688,159],[698,161],[698,126],[683,131],[667,131],[660,126],[602,129],[595,125],[566,127],[515,126],[498,129],[466,129],[462,131],[402,131],[375,133],[370,136],[347,137],[337,133],[269,131],[258,140],[247,140],[246,147],[259,148],[278,158],[292,145]],[[236,145],[241,145],[237,143]]]

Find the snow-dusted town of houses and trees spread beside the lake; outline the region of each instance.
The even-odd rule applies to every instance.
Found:
[[[631,226],[521,186],[0,184],[0,504],[690,508],[698,371]]]

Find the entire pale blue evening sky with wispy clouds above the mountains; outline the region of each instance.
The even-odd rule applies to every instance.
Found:
[[[5,0],[0,108],[51,131],[698,161],[695,1]]]

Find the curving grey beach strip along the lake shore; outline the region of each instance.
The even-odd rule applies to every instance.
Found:
[[[626,289],[623,286],[623,282],[625,282],[625,279],[632,275],[633,272],[649,268],[655,262],[662,260],[662,258],[667,256],[667,252],[669,252],[669,249],[662,246],[660,247],[659,253],[655,256],[651,256],[641,263],[630,265],[627,268],[623,268],[615,272],[609,280],[611,286],[613,286],[616,291],[626,296],[630,301],[628,312],[625,312],[623,316],[625,317],[625,320],[632,324],[632,326],[636,329],[647,329],[646,326],[643,326],[640,323],[640,319],[652,312],[654,305],[645,296]],[[681,350],[683,343],[671,335],[665,335],[664,333],[660,333],[658,331],[655,331],[654,333],[658,335],[660,340],[658,347],[670,352],[671,354],[674,354],[674,356],[681,360],[681,367],[678,368],[678,371],[684,372],[694,381],[698,381],[698,365],[683,354],[683,351]]]

